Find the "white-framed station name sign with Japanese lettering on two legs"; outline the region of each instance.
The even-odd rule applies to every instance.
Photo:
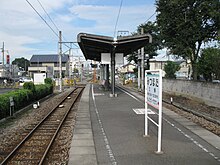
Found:
[[[148,105],[158,110],[158,122],[148,116]],[[161,135],[162,135],[162,70],[145,71],[145,135],[148,133],[148,120],[158,127],[158,145],[156,153],[161,154]]]

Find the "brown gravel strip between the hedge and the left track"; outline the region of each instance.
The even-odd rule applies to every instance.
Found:
[[[4,121],[0,126],[0,162],[6,156],[4,150],[13,149],[25,135],[33,128],[53,107],[57,105],[59,100],[65,97],[69,91],[55,95],[41,103],[40,108],[30,109],[22,112],[12,119]],[[74,114],[72,115],[74,116]]]

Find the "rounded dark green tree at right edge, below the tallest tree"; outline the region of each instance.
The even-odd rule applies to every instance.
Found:
[[[211,47],[203,49],[198,68],[199,73],[206,81],[220,79],[220,49]]]

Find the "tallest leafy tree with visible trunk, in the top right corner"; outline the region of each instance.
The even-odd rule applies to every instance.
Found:
[[[156,6],[164,44],[172,54],[191,60],[196,80],[201,45],[217,40],[219,0],[156,0]]]

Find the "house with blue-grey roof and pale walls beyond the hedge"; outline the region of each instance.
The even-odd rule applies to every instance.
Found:
[[[68,76],[69,73],[69,56],[63,55],[62,61],[62,77]],[[57,54],[33,55],[30,59],[28,73],[33,77],[34,73],[47,73],[47,77],[58,78],[59,74],[59,56]]]

